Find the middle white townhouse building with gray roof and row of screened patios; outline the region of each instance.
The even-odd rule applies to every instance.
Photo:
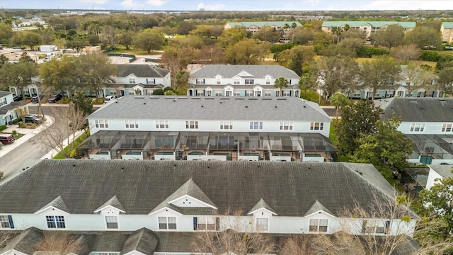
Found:
[[[334,160],[331,118],[295,97],[124,96],[88,116],[91,159]]]

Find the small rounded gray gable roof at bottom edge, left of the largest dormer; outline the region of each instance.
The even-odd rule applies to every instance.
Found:
[[[120,255],[127,254],[131,251],[139,251],[142,254],[152,255],[156,251],[158,241],[156,234],[151,230],[147,228],[138,229],[126,239]]]

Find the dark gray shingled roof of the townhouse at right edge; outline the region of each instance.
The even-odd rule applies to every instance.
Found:
[[[451,122],[453,98],[386,98],[374,101],[384,110],[381,118],[391,118],[393,113],[402,121]]]

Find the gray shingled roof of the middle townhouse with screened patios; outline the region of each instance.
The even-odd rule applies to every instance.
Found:
[[[330,122],[316,103],[295,97],[123,96],[90,119],[306,120]]]

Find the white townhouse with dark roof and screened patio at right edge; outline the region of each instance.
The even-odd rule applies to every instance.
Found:
[[[453,98],[386,98],[374,101],[384,113],[401,117],[398,130],[414,142],[408,162],[453,164]]]

